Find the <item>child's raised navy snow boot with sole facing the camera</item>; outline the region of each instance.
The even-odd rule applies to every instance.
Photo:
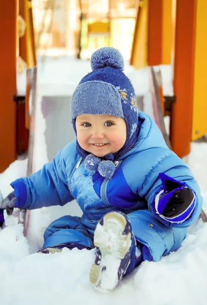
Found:
[[[136,264],[136,241],[126,215],[121,212],[106,214],[96,226],[94,245],[96,258],[91,267],[90,282],[97,290],[108,292]]]

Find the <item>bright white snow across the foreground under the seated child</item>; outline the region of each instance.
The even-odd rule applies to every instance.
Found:
[[[178,251],[157,263],[142,262],[114,291],[106,294],[94,290],[88,279],[94,250],[65,248],[57,254],[29,255],[28,248],[21,225],[1,232],[1,304],[206,303],[207,224],[201,221]]]

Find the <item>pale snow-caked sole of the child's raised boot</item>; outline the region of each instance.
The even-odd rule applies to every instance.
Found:
[[[119,283],[121,260],[132,243],[131,233],[123,234],[126,225],[126,218],[122,214],[111,212],[104,216],[103,225],[98,223],[95,229],[94,245],[99,248],[101,255],[99,264],[92,265],[90,282],[101,292],[110,291]]]

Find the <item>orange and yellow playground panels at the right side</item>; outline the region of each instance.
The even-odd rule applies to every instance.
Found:
[[[169,137],[179,157],[207,133],[206,13],[203,0],[140,0],[137,10],[131,64],[172,65],[174,96],[161,102],[167,110],[171,102]]]

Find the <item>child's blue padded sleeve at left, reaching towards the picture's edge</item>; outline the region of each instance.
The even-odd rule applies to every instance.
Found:
[[[17,198],[14,207],[34,209],[64,205],[73,200],[68,188],[68,177],[75,166],[74,152],[73,145],[70,143],[41,170],[28,178],[22,177],[12,182],[11,186]]]

